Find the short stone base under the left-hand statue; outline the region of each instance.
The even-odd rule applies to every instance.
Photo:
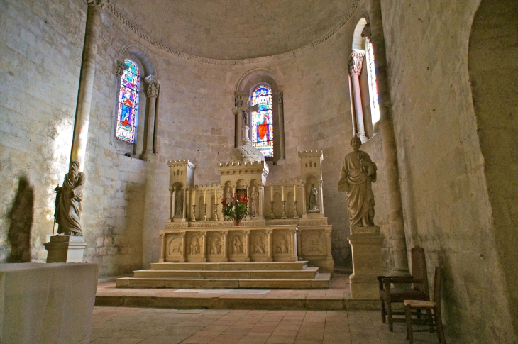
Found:
[[[54,235],[44,243],[48,251],[47,262],[83,262],[87,243],[83,236]]]

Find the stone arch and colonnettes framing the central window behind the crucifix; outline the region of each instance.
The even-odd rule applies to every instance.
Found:
[[[273,94],[273,158],[274,165],[284,161],[285,152],[285,133],[284,133],[284,94],[282,88],[282,77],[277,71],[267,67],[257,67],[244,73],[236,83],[234,89],[234,104],[243,96],[249,97],[251,91],[260,84],[268,84]],[[249,123],[251,123],[249,118]],[[241,141],[241,118],[236,116],[236,131],[234,145],[237,147]],[[250,128],[251,134],[251,128]],[[251,135],[249,135],[251,137]]]

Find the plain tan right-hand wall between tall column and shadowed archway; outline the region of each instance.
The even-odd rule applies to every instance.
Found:
[[[443,318],[456,343],[516,343],[502,276],[510,262],[495,246],[485,174],[492,155],[481,152],[468,74],[479,3],[381,1],[404,225],[408,246],[425,249],[430,281],[443,267]],[[500,37],[494,23],[483,28]]]

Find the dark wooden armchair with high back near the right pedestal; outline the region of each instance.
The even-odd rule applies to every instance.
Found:
[[[385,319],[388,318],[390,331],[394,331],[393,323],[404,323],[406,321],[404,317],[393,317],[404,316],[404,311],[393,311],[392,303],[402,303],[404,300],[428,301],[430,299],[423,248],[419,246],[412,248],[411,262],[412,276],[378,276],[378,282],[380,283],[381,318],[383,323],[385,323]],[[390,287],[390,284],[396,284],[396,287]],[[407,287],[404,286],[405,284],[407,284]]]

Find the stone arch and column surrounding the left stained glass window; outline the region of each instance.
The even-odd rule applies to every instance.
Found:
[[[114,118],[112,121],[111,142],[117,150],[131,157],[141,157],[146,159],[148,155],[153,155],[155,150],[155,116],[158,105],[158,71],[155,69],[155,62],[148,52],[140,46],[125,45],[119,53],[116,61],[116,94]],[[127,143],[116,138],[117,111],[119,103],[119,89],[121,75],[123,73],[124,60],[131,60],[140,70],[140,91],[138,115],[136,121],[136,138],[134,143]]]

